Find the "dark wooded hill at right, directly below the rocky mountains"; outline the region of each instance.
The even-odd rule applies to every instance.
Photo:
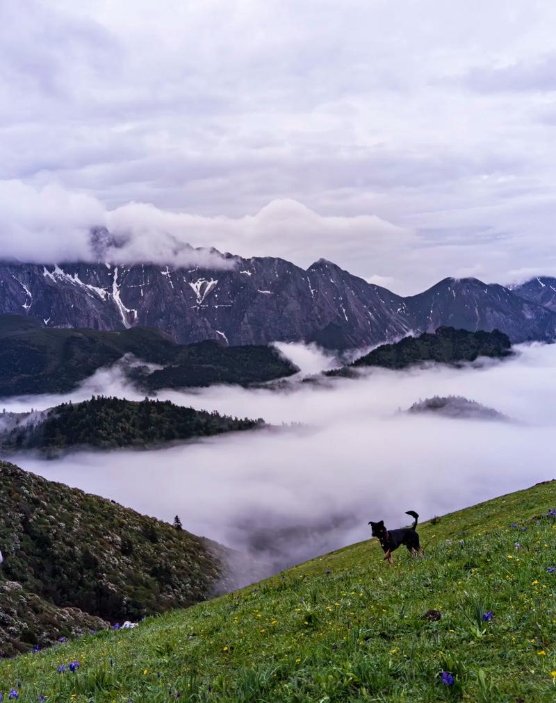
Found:
[[[394,344],[382,344],[348,366],[326,371],[325,375],[351,375],[369,366],[399,369],[428,361],[458,364],[476,361],[480,356],[503,359],[510,356],[511,348],[510,339],[498,330],[468,332],[439,327],[434,334],[424,333],[419,337],[405,337]]]

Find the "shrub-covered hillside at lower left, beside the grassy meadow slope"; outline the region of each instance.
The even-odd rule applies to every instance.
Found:
[[[60,608],[122,622],[205,600],[216,583],[231,587],[216,543],[5,462],[0,548],[0,656],[70,636]],[[33,605],[12,612],[24,593],[58,610],[48,621],[37,621]]]

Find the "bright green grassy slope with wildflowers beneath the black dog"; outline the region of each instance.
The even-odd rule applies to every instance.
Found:
[[[393,568],[366,541],[1,662],[0,690],[22,702],[554,701],[555,503],[556,482],[538,484],[421,524],[425,557],[399,550]]]

